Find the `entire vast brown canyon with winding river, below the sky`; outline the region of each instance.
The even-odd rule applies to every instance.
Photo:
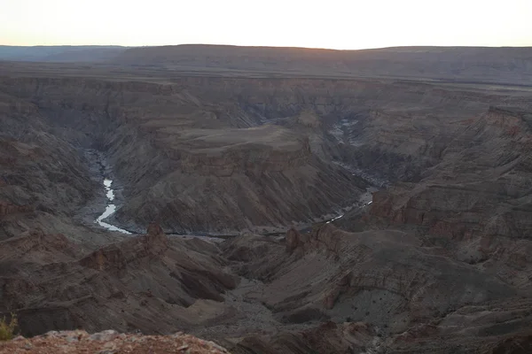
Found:
[[[109,50],[0,61],[22,335],[532,348],[532,51]]]

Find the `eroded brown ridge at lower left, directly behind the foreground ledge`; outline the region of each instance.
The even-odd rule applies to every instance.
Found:
[[[17,257],[0,258],[0,312],[17,312],[24,335],[106,326],[153,333],[231,318],[219,302],[236,277],[223,272],[216,249],[196,242],[168,240],[155,223],[146,235],[86,255],[64,236],[12,238],[3,250]],[[219,310],[201,319],[202,306]]]

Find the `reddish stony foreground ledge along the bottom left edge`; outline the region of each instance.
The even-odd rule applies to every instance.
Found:
[[[215,342],[192,335],[133,335],[107,330],[95,334],[85,331],[51,331],[32,338],[16,337],[0,342],[0,353],[229,353]]]

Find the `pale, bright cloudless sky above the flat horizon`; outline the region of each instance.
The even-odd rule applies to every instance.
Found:
[[[0,44],[532,46],[532,0],[0,0]]]

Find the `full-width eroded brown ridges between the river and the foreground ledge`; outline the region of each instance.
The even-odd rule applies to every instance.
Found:
[[[183,330],[235,353],[488,353],[532,329],[529,291],[397,231],[327,224],[219,249],[152,224],[94,251],[62,235],[1,246],[0,312],[16,312],[25,335],[113,327]]]

